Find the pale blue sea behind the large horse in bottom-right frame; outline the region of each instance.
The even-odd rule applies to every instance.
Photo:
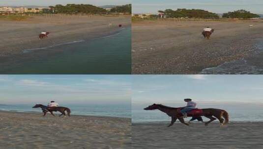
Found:
[[[148,104],[150,105],[150,104]],[[143,108],[148,105],[132,105],[132,123],[149,123],[149,122],[164,122],[171,121],[165,113],[159,110],[146,111]],[[169,106],[169,104],[164,104]],[[174,104],[170,106],[176,107]],[[183,106],[183,105],[182,105]],[[199,108],[218,108],[224,109],[229,113],[230,122],[263,122],[263,105],[262,104],[199,104]],[[204,121],[207,121],[203,117]],[[190,120],[187,118],[185,120]]]

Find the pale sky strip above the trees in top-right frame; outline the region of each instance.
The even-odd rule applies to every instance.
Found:
[[[132,0],[133,13],[157,13],[158,10],[187,8],[226,13],[245,9],[263,14],[263,0]]]

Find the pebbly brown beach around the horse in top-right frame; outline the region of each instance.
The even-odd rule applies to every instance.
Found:
[[[133,22],[132,73],[199,74],[205,68],[250,58],[258,54],[255,43],[262,38],[262,22]],[[215,29],[210,40],[201,35],[206,26]]]

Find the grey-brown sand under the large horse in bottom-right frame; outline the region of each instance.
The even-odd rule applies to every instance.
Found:
[[[132,124],[132,149],[262,149],[263,123]]]

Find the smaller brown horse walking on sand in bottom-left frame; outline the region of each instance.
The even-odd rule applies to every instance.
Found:
[[[43,105],[43,104],[35,104],[32,108],[41,108],[41,109],[42,109],[42,112],[44,113],[43,116],[45,116],[45,115],[47,114],[47,112],[50,112],[53,116],[55,116],[55,115],[53,114],[53,111],[55,111],[55,112],[59,111],[60,113],[62,113],[62,114],[60,114],[59,116],[61,116],[61,115],[66,116],[65,111],[67,111],[67,115],[70,116],[70,112],[71,112],[70,109],[67,108],[67,107],[62,107],[62,106],[58,106],[58,107],[47,107],[47,106],[45,106],[45,105]]]

